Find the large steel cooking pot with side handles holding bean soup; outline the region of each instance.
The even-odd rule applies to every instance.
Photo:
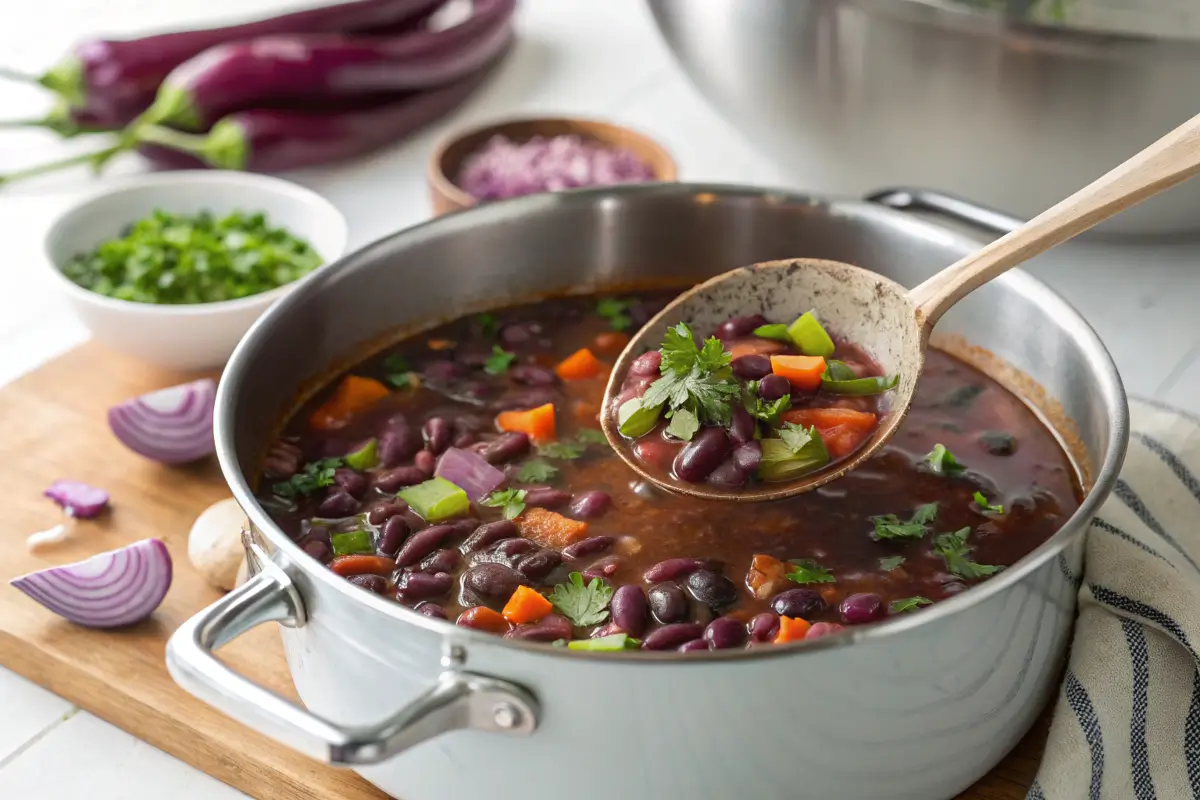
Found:
[[[1088,451],[1087,499],[998,577],[844,636],[689,658],[505,640],[335,576],[276,528],[250,481],[300,387],[397,325],[546,293],[695,282],[788,255],[853,261],[911,285],[978,245],[871,201],[662,184],[484,205],[320,270],[262,318],[221,380],[217,452],[252,523],[256,575],[172,637],[172,674],[229,716],[404,800],[954,795],[1008,752],[1054,690],[1082,533],[1128,435],[1103,344],[1028,275],[976,291],[938,331],[1007,359],[1061,402]],[[282,625],[307,709],[211,655],[268,621]]]

